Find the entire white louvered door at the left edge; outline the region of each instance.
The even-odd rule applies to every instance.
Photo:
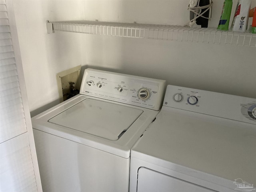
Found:
[[[42,191],[12,1],[7,3],[11,8],[0,0],[0,192]]]

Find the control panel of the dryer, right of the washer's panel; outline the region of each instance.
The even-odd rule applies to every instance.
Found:
[[[256,124],[256,98],[168,85],[163,106]]]

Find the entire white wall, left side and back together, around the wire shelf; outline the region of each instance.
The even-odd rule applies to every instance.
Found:
[[[58,103],[56,74],[80,64],[84,68],[160,78],[167,80],[168,84],[256,98],[256,48],[46,33],[46,20],[98,19],[183,25],[189,18],[188,2],[14,0],[32,115]],[[223,2],[214,0],[209,26],[217,27]],[[236,2],[234,0],[232,16]],[[256,6],[256,0],[252,6]]]

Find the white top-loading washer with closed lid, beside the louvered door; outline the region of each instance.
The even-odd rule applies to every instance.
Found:
[[[129,190],[130,149],[165,81],[86,69],[80,94],[32,118],[45,192]]]

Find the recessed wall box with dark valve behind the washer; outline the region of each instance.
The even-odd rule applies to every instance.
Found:
[[[74,68],[59,72],[56,75],[60,102],[63,102],[79,93],[81,86],[80,70],[81,66],[76,66]]]

